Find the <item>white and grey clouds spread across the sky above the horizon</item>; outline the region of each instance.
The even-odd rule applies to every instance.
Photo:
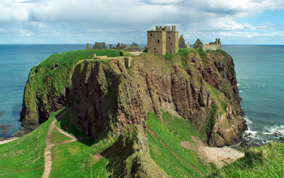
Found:
[[[274,23],[253,26],[236,19],[283,8],[283,0],[1,0],[0,36],[133,37],[156,24],[175,24],[189,38],[261,36],[255,31],[276,36]]]

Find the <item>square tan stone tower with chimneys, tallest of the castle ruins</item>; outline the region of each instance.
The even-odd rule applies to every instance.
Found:
[[[170,26],[155,27],[155,31],[147,31],[148,52],[156,54],[175,54],[178,53],[178,31],[176,27]]]

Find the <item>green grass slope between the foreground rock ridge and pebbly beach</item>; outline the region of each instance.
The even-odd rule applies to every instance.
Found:
[[[185,162],[191,164],[193,167],[199,169],[206,174],[207,167],[205,167],[197,157],[194,151],[188,150],[180,145],[180,142],[187,141],[193,144],[191,135],[198,136],[198,132],[189,121],[171,116],[168,112],[164,112],[163,119],[160,120],[156,115],[148,113],[147,125],[155,132],[158,137],[163,139],[165,144],[182,157]],[[148,144],[150,147],[151,158],[156,164],[170,177],[201,177],[195,170],[189,167],[173,155],[172,152],[163,147],[160,141],[148,132]]]

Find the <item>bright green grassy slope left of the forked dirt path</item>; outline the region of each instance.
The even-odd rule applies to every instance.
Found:
[[[41,177],[45,167],[45,137],[58,112],[35,131],[0,145],[0,177]]]

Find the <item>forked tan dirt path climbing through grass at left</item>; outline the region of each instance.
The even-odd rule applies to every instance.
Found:
[[[63,130],[60,130],[60,128],[58,128],[55,124],[56,122],[58,122],[58,119],[60,117],[62,117],[62,115],[64,115],[66,113],[66,110],[64,112],[61,112],[58,116],[55,117],[55,119],[53,120],[53,122],[51,122],[50,127],[48,129],[48,135],[46,135],[46,147],[45,147],[45,170],[43,172],[43,178],[48,178],[50,171],[51,171],[51,166],[53,164],[52,161],[52,157],[51,157],[51,148],[54,147],[55,145],[61,145],[61,144],[65,144],[65,143],[69,143],[69,142],[75,142],[78,140],[84,140],[87,137],[74,137],[66,132],[64,132]],[[59,142],[59,143],[55,143],[53,144],[51,142],[51,137],[53,135],[53,130],[56,129],[58,130],[60,133],[62,133],[63,135],[72,138],[72,140],[67,140],[65,142]]]

